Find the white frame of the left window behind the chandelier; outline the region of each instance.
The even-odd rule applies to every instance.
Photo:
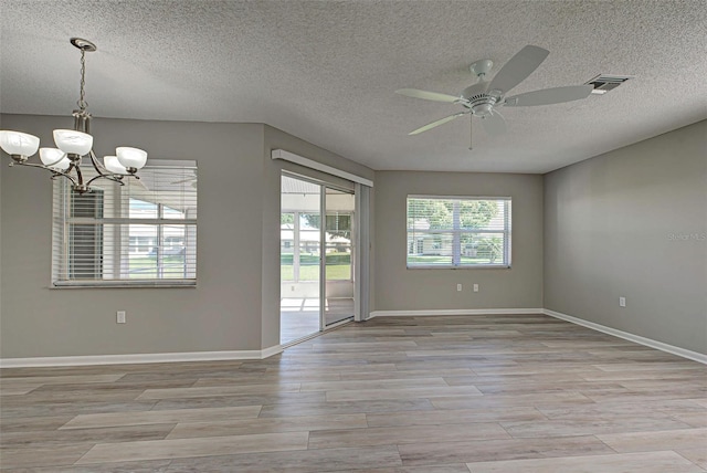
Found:
[[[180,160],[151,160],[148,162],[145,169],[168,167],[172,169],[188,170],[189,172],[197,171],[196,161],[180,161]],[[82,167],[83,168],[83,167]],[[87,171],[92,168],[86,167]],[[138,172],[139,175],[139,172]],[[124,178],[133,179],[133,178]],[[107,180],[102,179],[102,187],[107,188],[105,193],[112,192],[110,199],[114,202],[114,213],[112,216],[103,216],[101,218],[76,218],[70,216],[71,207],[71,182],[66,179],[54,180],[54,221],[53,221],[53,234],[52,234],[52,281],[50,287],[52,288],[72,288],[72,287],[194,287],[197,285],[197,218],[184,219],[169,219],[165,218],[166,206],[161,202],[154,202],[157,206],[157,218],[130,218],[129,216],[129,201],[130,197],[125,198],[122,192],[126,187],[117,183],[110,183]],[[194,186],[196,189],[196,186]],[[196,192],[196,190],[194,190]],[[197,201],[194,201],[197,203]],[[110,245],[112,248],[104,249],[99,259],[102,263],[102,273],[104,278],[95,280],[72,280],[68,276],[68,261],[70,261],[70,235],[68,229],[71,224],[98,224],[103,227],[103,233],[112,233],[106,240],[104,245]],[[122,270],[128,264],[128,260],[131,254],[130,250],[130,235],[128,233],[127,225],[156,225],[157,228],[157,241],[161,241],[161,232],[165,227],[169,225],[186,225],[187,242],[186,252],[189,252],[189,256],[194,259],[193,264],[190,264],[187,269],[188,274],[183,278],[162,277],[163,273],[160,271],[159,264],[157,266],[158,276],[147,278],[120,278]],[[117,225],[117,227],[114,227]],[[119,233],[119,234],[116,234]],[[189,235],[191,235],[191,243],[189,243]],[[188,249],[187,249],[188,246]],[[102,245],[103,248],[103,245]],[[157,244],[158,251],[156,256],[159,261],[160,252],[162,250]],[[109,274],[108,278],[105,275]]]

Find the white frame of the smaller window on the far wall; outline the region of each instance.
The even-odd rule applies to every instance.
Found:
[[[453,223],[450,228],[444,229],[430,229],[420,230],[410,228],[408,222],[410,216],[408,209],[411,199],[425,199],[425,200],[444,200],[444,201],[485,201],[494,200],[502,202],[504,206],[504,228],[503,229],[463,229],[458,227],[458,220],[453,218]],[[474,269],[510,269],[511,260],[511,222],[513,222],[513,206],[510,197],[477,197],[477,196],[422,196],[422,195],[409,195],[405,199],[405,266],[409,270],[474,270]],[[456,228],[455,228],[456,227]],[[462,262],[462,234],[503,234],[503,252],[502,259],[498,263],[463,263]],[[414,249],[420,252],[419,249],[423,248],[423,242],[420,239],[421,235],[445,234],[452,235],[452,256],[450,264],[425,264],[423,262],[411,262],[410,249]]]

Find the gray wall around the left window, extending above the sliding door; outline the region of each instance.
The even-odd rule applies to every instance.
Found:
[[[44,145],[66,117],[2,115],[1,127]],[[266,135],[267,130],[267,145]],[[0,356],[87,356],[260,350],[278,344],[277,145],[346,170],[372,171],[262,124],[95,119],[98,156],[116,146],[149,157],[197,159],[196,288],[49,288],[49,172],[0,166]],[[36,159],[36,158],[33,158]],[[264,233],[266,232],[266,233]],[[275,287],[276,290],[273,290]],[[127,324],[116,324],[116,311]]]

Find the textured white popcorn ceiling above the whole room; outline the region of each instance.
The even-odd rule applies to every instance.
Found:
[[[94,41],[94,116],[262,122],[374,169],[546,172],[707,117],[707,2],[0,1],[0,111],[67,115],[78,88],[71,36]],[[408,132],[526,44],[550,55],[513,92],[634,76],[603,96],[504,108],[488,137],[463,117]],[[478,125],[478,122],[475,122]]]

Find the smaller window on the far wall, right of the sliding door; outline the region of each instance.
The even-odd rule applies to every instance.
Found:
[[[408,267],[510,267],[510,198],[408,196]]]

